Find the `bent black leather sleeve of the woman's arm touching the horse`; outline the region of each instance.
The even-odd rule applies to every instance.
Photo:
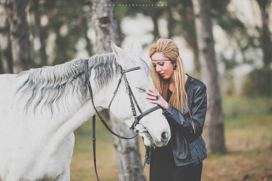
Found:
[[[183,133],[189,137],[195,137],[202,134],[203,125],[207,111],[207,93],[206,85],[199,86],[192,100],[191,115],[193,118],[193,126],[196,134],[194,133],[191,119],[184,116],[179,110],[170,105],[167,112],[167,121],[176,127],[182,129]]]

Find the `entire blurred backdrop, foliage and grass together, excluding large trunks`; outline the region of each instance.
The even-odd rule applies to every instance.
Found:
[[[228,152],[224,156],[210,155],[204,161],[202,178],[272,180],[271,0],[211,2]],[[137,3],[114,0],[113,4],[123,49],[129,51],[133,41],[140,38],[143,58],[149,60],[148,46],[157,37],[171,38],[179,46],[186,72],[201,80],[191,0],[138,0]],[[141,6],[132,7],[132,4]],[[164,6],[143,6],[152,4]],[[33,68],[53,66],[99,53],[91,22],[90,1],[29,0],[26,13]],[[13,73],[12,66],[5,0],[0,0],[0,73]],[[91,123],[81,126],[75,135],[71,180],[90,180],[90,176],[95,178]],[[100,124],[97,137],[97,149],[103,149],[97,155],[100,160],[98,170],[105,173],[102,176],[105,180],[116,180],[112,137]],[[141,147],[142,155],[143,152]],[[103,164],[106,162],[108,164]],[[148,169],[145,173],[148,175]]]

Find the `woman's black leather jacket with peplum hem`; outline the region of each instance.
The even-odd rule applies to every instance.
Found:
[[[188,164],[194,166],[207,157],[206,143],[201,136],[207,110],[206,89],[202,81],[188,75],[185,90],[196,133],[192,127],[189,110],[185,106],[183,113],[171,105],[167,112],[167,121],[172,125],[171,139],[168,144],[172,144],[176,166]],[[153,148],[148,152],[147,163],[150,162],[152,150]]]

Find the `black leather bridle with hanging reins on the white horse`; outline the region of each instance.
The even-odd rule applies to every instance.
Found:
[[[120,67],[121,67],[121,66],[120,66]],[[114,97],[115,97],[115,95],[116,95],[116,93],[117,93],[118,87],[119,87],[119,85],[120,85],[120,83],[121,83],[121,81],[122,81],[122,77],[123,77],[123,78],[124,78],[124,81],[125,81],[126,91],[127,91],[128,96],[129,96],[130,103],[131,103],[131,110],[132,110],[132,113],[133,113],[133,116],[134,116],[134,119],[135,119],[134,122],[132,123],[132,125],[131,125],[131,127],[130,127],[129,129],[135,129],[135,130],[136,130],[135,132],[137,132],[137,135],[138,135],[139,133],[147,132],[146,127],[144,127],[144,125],[142,125],[139,121],[140,121],[145,115],[147,115],[148,113],[151,113],[151,112],[153,112],[153,111],[155,111],[155,110],[161,108],[161,106],[157,105],[157,106],[154,106],[154,107],[152,107],[151,109],[149,109],[149,110],[147,110],[147,111],[145,111],[145,112],[142,112],[142,111],[141,111],[141,109],[140,109],[140,107],[139,107],[139,105],[138,105],[138,103],[137,103],[137,101],[136,101],[136,99],[135,99],[135,97],[134,97],[134,94],[133,94],[133,92],[132,92],[132,90],[131,90],[131,88],[130,88],[130,86],[129,86],[129,83],[128,83],[128,80],[127,80],[126,74],[125,74],[126,72],[134,71],[134,70],[139,70],[139,69],[141,69],[141,67],[129,68],[129,69],[127,69],[127,70],[123,70],[123,68],[121,67],[121,77],[120,77],[120,79],[119,79],[119,81],[118,81],[118,84],[117,84],[117,87],[116,87],[116,89],[115,89],[115,91],[114,91],[114,93],[113,93],[113,97],[112,97],[112,99],[111,99],[111,101],[110,101],[110,103],[109,103],[109,105],[108,105],[108,109],[110,109],[112,100],[114,99]],[[84,74],[85,74],[85,78],[86,78],[86,84],[88,85],[88,88],[89,88],[89,93],[90,93],[90,96],[91,96],[92,105],[93,105],[93,107],[94,107],[94,109],[95,109],[95,111],[96,111],[96,113],[97,113],[97,115],[98,115],[100,121],[103,123],[103,125],[108,129],[109,132],[111,132],[113,135],[115,135],[115,136],[117,136],[117,137],[119,137],[119,138],[122,138],[122,139],[132,139],[132,138],[135,138],[137,135],[135,135],[135,136],[133,136],[133,137],[131,137],[131,138],[127,138],[127,137],[123,137],[123,136],[117,135],[115,132],[113,132],[113,131],[109,128],[109,126],[107,125],[107,123],[105,122],[105,120],[102,118],[102,116],[101,116],[101,115],[99,114],[99,112],[97,111],[97,109],[96,109],[96,107],[95,107],[95,105],[94,105],[94,103],[93,103],[92,87],[91,87],[91,84],[90,84],[90,81],[89,81],[89,74],[88,74],[88,59],[86,59],[86,62],[84,63]],[[135,102],[135,104],[136,104],[136,106],[137,106],[139,112],[141,113],[139,116],[137,116],[137,113],[136,113],[136,110],[135,110],[135,107],[134,107],[133,100],[134,100],[134,102]],[[136,126],[137,124],[140,124],[140,125],[142,125],[142,126],[144,127],[144,129],[143,129],[142,132],[139,132],[139,130],[137,130],[137,129],[135,128],[135,126]],[[94,167],[95,167],[95,172],[96,172],[96,178],[97,178],[97,180],[99,181],[99,178],[98,178],[98,175],[97,175],[97,170],[96,170],[96,116],[95,116],[95,115],[92,116],[92,148],[93,148],[93,158],[94,158],[93,161],[94,161]],[[145,164],[147,163],[147,148],[148,148],[148,147],[146,147],[145,160],[144,160],[143,169],[142,169],[141,173],[138,174],[138,176],[134,179],[134,181],[138,180],[138,179],[140,178],[141,174],[142,174],[143,171],[144,171]],[[149,163],[148,163],[148,164],[149,164]]]

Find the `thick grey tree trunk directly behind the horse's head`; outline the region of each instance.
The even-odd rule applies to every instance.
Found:
[[[91,0],[92,23],[96,31],[96,43],[99,53],[112,52],[110,40],[120,46],[120,30],[114,17],[114,9],[105,6],[112,4],[110,0]],[[121,74],[120,74],[121,76]],[[112,130],[120,135],[130,137],[134,131],[128,129],[128,125],[110,114]],[[138,139],[120,139],[113,135],[115,156],[118,166],[118,178],[120,181],[133,180],[142,168]],[[142,174],[139,180],[145,180]]]

